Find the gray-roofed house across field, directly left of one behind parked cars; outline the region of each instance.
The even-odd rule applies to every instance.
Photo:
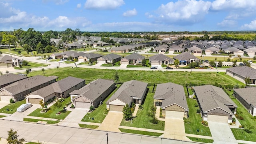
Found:
[[[142,60],[145,59],[145,56],[140,54],[130,54],[120,60],[120,64],[141,64]]]

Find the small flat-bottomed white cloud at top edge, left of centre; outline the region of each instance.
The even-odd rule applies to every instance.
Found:
[[[124,0],[86,0],[86,9],[109,10],[124,5]]]

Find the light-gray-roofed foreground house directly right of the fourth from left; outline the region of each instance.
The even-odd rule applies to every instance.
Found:
[[[129,106],[131,106],[132,102],[142,104],[147,92],[147,86],[148,83],[138,80],[124,82],[106,102],[107,109],[122,112],[126,104]]]

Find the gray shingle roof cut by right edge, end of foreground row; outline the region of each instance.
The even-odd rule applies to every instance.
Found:
[[[252,104],[254,107],[256,107],[256,87],[234,88],[234,92],[236,92],[248,104]]]

